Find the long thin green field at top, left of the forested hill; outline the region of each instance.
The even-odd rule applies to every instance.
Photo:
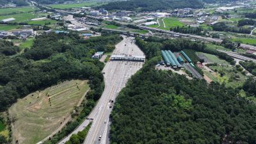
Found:
[[[57,9],[70,9],[70,8],[81,8],[86,6],[100,6],[102,4],[106,3],[100,3],[96,1],[88,1],[84,3],[74,3],[74,4],[51,4],[49,5],[51,8],[57,8]]]

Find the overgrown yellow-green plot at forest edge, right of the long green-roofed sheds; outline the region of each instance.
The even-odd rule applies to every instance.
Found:
[[[225,86],[237,88],[239,86],[243,86],[246,81],[246,76],[241,74],[241,72],[234,72],[234,67],[227,65],[218,65],[218,66],[210,66],[210,68],[214,71],[217,70],[218,74],[214,77],[216,79],[212,79],[212,81],[217,81],[219,83],[225,83]],[[224,75],[221,76],[220,73]],[[208,74],[206,74],[208,76]],[[237,77],[237,79],[236,79]],[[211,78],[211,76],[210,76]]]

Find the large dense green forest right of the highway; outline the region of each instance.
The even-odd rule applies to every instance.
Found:
[[[240,88],[155,69],[159,49],[167,42],[182,45],[179,40],[136,38],[148,60],[116,99],[111,143],[256,143],[256,105],[239,96]],[[196,42],[183,44],[192,49]]]

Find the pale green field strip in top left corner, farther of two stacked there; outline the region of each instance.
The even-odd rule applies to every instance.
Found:
[[[21,7],[21,8],[0,8],[0,15],[8,15],[10,13],[26,13],[26,12],[34,12],[35,10],[39,10],[33,6]]]

